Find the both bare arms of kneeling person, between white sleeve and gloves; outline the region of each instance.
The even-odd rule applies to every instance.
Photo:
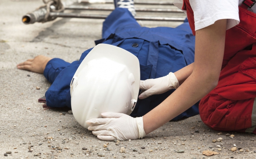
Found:
[[[224,54],[226,23],[226,19],[218,20],[196,31],[195,63],[175,72],[178,81],[184,83],[143,116],[146,134],[187,110],[216,87]],[[186,79],[186,76],[189,77]]]

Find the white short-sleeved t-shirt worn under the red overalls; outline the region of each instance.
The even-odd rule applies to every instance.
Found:
[[[189,0],[194,12],[195,30],[208,27],[220,19],[227,19],[227,30],[236,26],[240,22],[238,6],[242,2],[243,0]],[[183,0],[174,0],[174,5],[182,9]],[[256,4],[248,10],[256,13]]]

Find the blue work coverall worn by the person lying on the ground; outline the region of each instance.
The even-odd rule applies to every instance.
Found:
[[[188,22],[176,28],[141,27],[125,8],[116,8],[105,19],[102,39],[96,40],[95,43],[96,45],[99,43],[114,45],[137,56],[140,61],[141,80],[166,76],[169,72],[175,72],[194,62],[195,37]],[[86,50],[80,60],[71,64],[59,58],[54,58],[47,63],[44,76],[52,83],[45,93],[48,107],[71,108],[70,82],[91,49]],[[143,100],[138,99],[130,116],[143,116],[173,91],[152,95]],[[198,104],[195,104],[173,120],[191,117],[198,113]]]

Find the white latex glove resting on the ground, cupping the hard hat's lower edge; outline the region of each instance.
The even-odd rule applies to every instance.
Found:
[[[114,112],[105,112],[101,116],[103,118],[86,121],[91,125],[88,130],[92,130],[100,140],[134,140],[146,136],[142,117],[132,118],[126,114]]]

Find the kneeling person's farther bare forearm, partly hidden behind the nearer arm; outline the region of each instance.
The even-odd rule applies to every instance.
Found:
[[[174,72],[180,85],[188,78],[188,76],[190,76],[190,74],[193,72],[193,69],[194,69],[194,63],[180,69],[179,71]]]

